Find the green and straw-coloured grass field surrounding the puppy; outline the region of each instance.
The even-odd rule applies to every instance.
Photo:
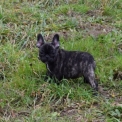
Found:
[[[121,13],[121,0],[1,0],[0,120],[121,122]],[[38,33],[49,41],[59,33],[62,48],[94,56],[98,96],[82,78],[60,85],[44,81]]]

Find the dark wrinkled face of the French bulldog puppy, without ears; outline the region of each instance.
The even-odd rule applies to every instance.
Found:
[[[43,63],[54,62],[56,59],[57,50],[51,44],[44,44],[39,49],[39,59]]]

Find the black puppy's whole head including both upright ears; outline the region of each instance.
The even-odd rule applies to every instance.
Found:
[[[55,61],[59,49],[59,35],[55,34],[52,42],[47,43],[44,41],[41,34],[37,35],[36,46],[39,48],[39,59],[43,63],[52,63]]]

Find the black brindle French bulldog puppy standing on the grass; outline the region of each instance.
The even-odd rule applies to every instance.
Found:
[[[46,43],[41,34],[37,36],[39,59],[47,66],[47,75],[58,81],[83,76],[84,81],[98,90],[95,80],[95,61],[91,54],[60,49],[59,35],[55,34],[51,43]]]

